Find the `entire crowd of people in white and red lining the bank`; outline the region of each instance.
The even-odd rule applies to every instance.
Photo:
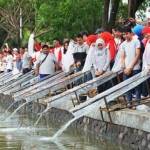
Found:
[[[94,34],[79,33],[74,39],[64,39],[63,44],[55,39],[53,46],[35,43],[35,53],[7,46],[0,53],[0,72],[27,73],[33,68],[40,79],[53,75],[57,70],[86,72],[94,68],[95,76],[107,71],[123,71],[127,80],[141,70],[150,69],[150,18],[145,25],[128,19],[108,32],[103,28]],[[90,77],[89,77],[90,78]],[[136,100],[141,100],[141,85],[134,89]],[[133,92],[127,93],[131,105]]]

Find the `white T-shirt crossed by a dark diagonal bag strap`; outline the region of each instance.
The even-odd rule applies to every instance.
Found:
[[[45,59],[46,54],[41,53],[37,59],[36,64],[41,64]],[[49,53],[44,62],[40,65],[39,74],[54,74],[55,73],[56,58],[54,54]]]

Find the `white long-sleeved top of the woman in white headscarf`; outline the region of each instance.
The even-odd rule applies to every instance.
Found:
[[[97,71],[108,71],[110,69],[109,50],[107,48],[98,50],[95,46],[91,46],[82,71],[90,70],[92,65]]]

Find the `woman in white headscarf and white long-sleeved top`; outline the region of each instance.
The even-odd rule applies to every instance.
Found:
[[[90,47],[87,55],[83,72],[95,69],[95,75],[100,76],[104,72],[110,70],[110,54],[109,50],[105,47],[105,42],[102,39],[97,39],[95,45]]]

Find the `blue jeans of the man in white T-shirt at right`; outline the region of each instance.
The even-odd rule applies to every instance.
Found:
[[[140,73],[140,70],[133,70],[129,76],[124,74],[123,79],[127,80],[138,73]],[[126,93],[126,98],[127,98],[128,102],[132,101],[133,93],[136,95],[136,101],[140,102],[140,100],[141,100],[141,85],[138,85],[137,87],[135,87],[134,89],[132,89]]]

